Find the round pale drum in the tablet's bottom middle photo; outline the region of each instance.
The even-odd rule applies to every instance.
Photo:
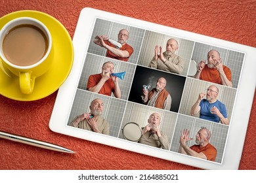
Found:
[[[142,137],[142,129],[136,123],[128,123],[122,129],[123,138],[128,141],[138,142]]]

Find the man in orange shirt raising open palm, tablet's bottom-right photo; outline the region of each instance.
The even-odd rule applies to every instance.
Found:
[[[186,142],[193,140],[189,138],[188,129],[181,131],[179,153],[194,156],[196,158],[207,159],[209,161],[215,161],[217,156],[217,150],[215,146],[209,143],[211,132],[206,127],[201,127],[200,131],[196,135],[196,143],[193,146],[188,147]]]

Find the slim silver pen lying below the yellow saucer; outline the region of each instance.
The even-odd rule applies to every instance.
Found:
[[[67,148],[64,148],[62,146],[57,146],[57,145],[51,144],[49,142],[38,141],[38,140],[35,140],[35,139],[22,137],[20,135],[14,135],[12,133],[7,133],[5,131],[0,131],[0,138],[7,139],[9,141],[20,142],[22,144],[28,144],[28,145],[31,145],[31,146],[36,146],[36,147],[39,147],[39,148],[45,148],[45,149],[48,149],[48,150],[55,150],[55,151],[58,151],[58,152],[67,152],[67,153],[71,153],[71,154],[75,153],[74,151],[69,150]]]

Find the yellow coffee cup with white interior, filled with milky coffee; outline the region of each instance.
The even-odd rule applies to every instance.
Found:
[[[35,78],[45,74],[53,61],[49,29],[35,18],[15,18],[0,31],[3,65],[19,77],[20,91],[33,92]]]

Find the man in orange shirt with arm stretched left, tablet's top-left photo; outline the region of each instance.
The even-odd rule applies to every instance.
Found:
[[[128,61],[133,54],[133,47],[127,44],[129,39],[129,32],[126,29],[121,29],[117,35],[117,44],[121,44],[121,48],[110,42],[110,39],[106,35],[97,35],[93,41],[98,46],[107,49],[106,57],[119,59],[121,61]]]

